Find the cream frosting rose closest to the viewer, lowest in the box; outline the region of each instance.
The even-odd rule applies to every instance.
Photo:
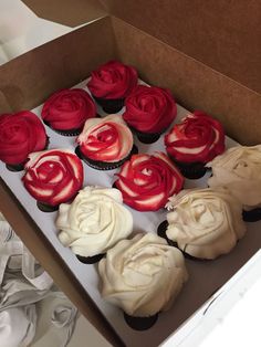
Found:
[[[137,317],[170,308],[188,278],[181,252],[153,233],[118,242],[98,272],[103,298]]]

